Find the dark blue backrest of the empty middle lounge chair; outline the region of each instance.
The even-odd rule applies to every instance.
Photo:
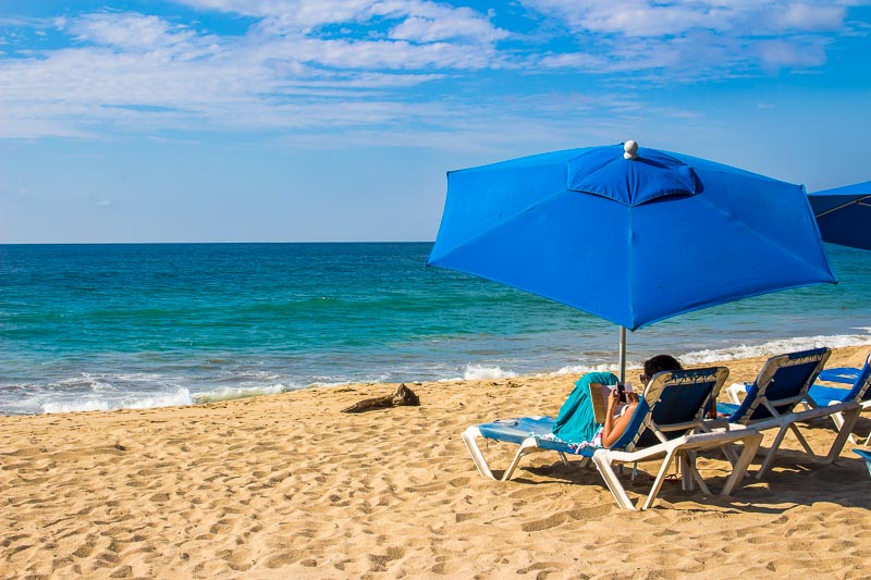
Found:
[[[812,348],[768,359],[729,422],[747,424],[770,419],[775,416],[771,409],[776,415],[793,412],[831,354],[829,348]]]

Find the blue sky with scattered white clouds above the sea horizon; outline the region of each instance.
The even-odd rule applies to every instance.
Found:
[[[445,172],[636,139],[871,178],[871,0],[0,1],[0,243],[431,240]]]

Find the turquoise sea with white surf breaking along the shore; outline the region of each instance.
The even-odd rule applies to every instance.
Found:
[[[430,248],[0,245],[0,414],[615,367],[613,324],[427,268]],[[660,351],[701,362],[871,345],[871,254],[827,249],[839,285],[641,329],[629,334],[629,362]]]

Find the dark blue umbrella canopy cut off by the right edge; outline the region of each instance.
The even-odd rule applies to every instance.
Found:
[[[871,182],[808,194],[823,240],[871,249]]]

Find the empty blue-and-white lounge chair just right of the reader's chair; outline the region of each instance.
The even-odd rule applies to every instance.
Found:
[[[771,468],[787,431],[792,431],[802,448],[809,455],[814,456],[813,449],[798,430],[797,423],[799,422],[832,416],[835,412],[843,414],[844,428],[838,431],[829,454],[822,461],[834,461],[844,448],[859,414],[858,403],[848,402],[807,410],[800,410],[799,407],[807,399],[810,385],[819,377],[831,354],[829,348],[814,348],[771,357],[762,366],[755,382],[749,385],[738,383],[727,390],[731,398],[738,388],[746,391],[740,404],[717,404],[717,412],[727,417],[711,421],[712,428],[721,427],[734,430],[751,427],[758,431],[777,429],[762,466],[756,473],[757,479],[761,479]]]

